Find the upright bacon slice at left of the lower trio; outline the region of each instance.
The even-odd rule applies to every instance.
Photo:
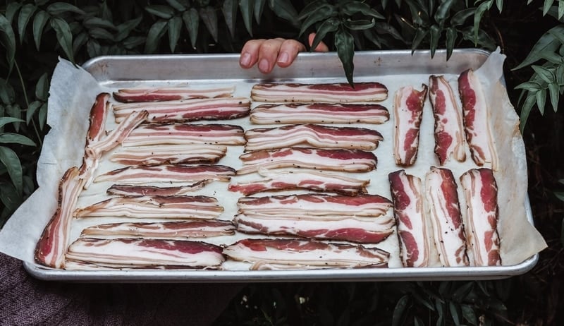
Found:
[[[427,234],[421,179],[399,170],[388,174],[404,267],[427,267],[433,244]]]

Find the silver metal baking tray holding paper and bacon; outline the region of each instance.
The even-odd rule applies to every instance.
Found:
[[[455,49],[446,60],[446,51],[431,55],[427,51],[407,50],[357,52],[355,81],[379,80],[387,75],[458,74],[477,69],[489,52],[479,49]],[[238,54],[100,56],[82,67],[105,87],[123,87],[136,83],[233,83],[345,81],[341,62],[335,53],[302,53],[288,68],[275,68],[269,75],[257,68],[244,70]],[[248,87],[248,86],[247,86]],[[393,97],[393,90],[390,90]],[[391,111],[391,107],[388,110]],[[393,123],[388,121],[388,123]],[[391,140],[388,140],[391,141]],[[379,162],[380,164],[380,162]],[[533,224],[528,198],[527,219]],[[395,236],[395,235],[393,235]],[[364,268],[330,270],[54,270],[24,262],[27,272],[38,279],[71,282],[324,282],[324,281],[405,281],[503,279],[523,274],[537,263],[538,254],[517,264],[496,267]]]

